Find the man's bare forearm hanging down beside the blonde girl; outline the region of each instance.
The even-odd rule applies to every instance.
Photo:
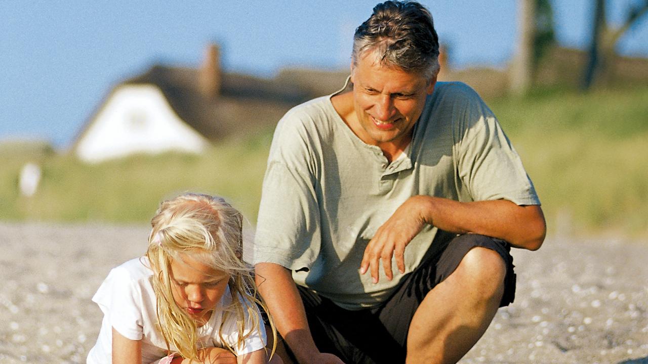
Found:
[[[321,353],[308,329],[308,320],[290,270],[275,263],[258,263],[255,275],[277,331],[299,363],[343,364],[332,354]]]

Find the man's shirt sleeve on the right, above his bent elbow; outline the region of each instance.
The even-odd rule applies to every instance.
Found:
[[[500,123],[470,89],[456,137],[459,177],[474,201],[507,199],[517,205],[540,205],[522,160]]]

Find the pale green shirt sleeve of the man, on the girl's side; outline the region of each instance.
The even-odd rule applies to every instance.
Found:
[[[287,115],[288,119],[294,115]],[[284,117],[285,118],[285,117]],[[321,245],[316,159],[309,135],[282,120],[273,137],[264,176],[253,264],[272,262],[288,269],[310,268]]]

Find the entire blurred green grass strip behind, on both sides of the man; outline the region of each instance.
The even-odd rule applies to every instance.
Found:
[[[539,90],[489,100],[537,188],[550,233],[648,235],[648,87],[580,94]],[[137,155],[86,165],[43,146],[0,146],[0,220],[146,222],[185,191],[226,197],[255,223],[272,130],[203,155]],[[18,196],[21,166],[43,179]]]

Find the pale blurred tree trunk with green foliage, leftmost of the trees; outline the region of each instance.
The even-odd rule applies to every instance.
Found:
[[[524,94],[533,84],[542,57],[555,43],[550,0],[518,1],[518,30],[510,82],[513,92]]]

